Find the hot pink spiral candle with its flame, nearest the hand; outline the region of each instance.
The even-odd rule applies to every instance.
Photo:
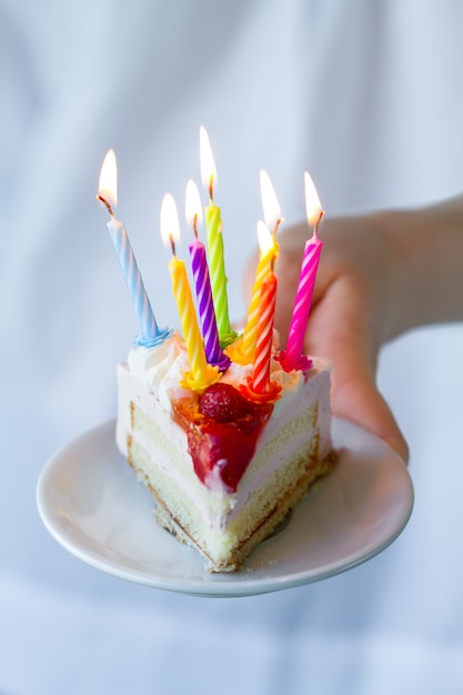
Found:
[[[320,205],[319,195],[313,185],[313,181],[306,172],[304,173],[304,183],[308,222],[313,226],[313,234],[305,243],[286,350],[285,352],[282,351],[280,356],[283,369],[289,372],[291,370],[305,371],[310,369],[312,364],[311,360],[303,354],[303,346],[313,289],[315,286],[316,270],[323,245],[318,236],[318,229],[324,213]]]

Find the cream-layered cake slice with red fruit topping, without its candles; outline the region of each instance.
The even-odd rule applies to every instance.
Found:
[[[131,349],[118,366],[117,442],[159,523],[209,571],[233,572],[333,466],[330,370],[315,359],[285,372],[272,359],[273,402],[245,396],[251,366],[231,364],[202,393],[180,386],[188,370],[177,332]]]

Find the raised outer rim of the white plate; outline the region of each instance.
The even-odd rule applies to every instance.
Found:
[[[385,451],[389,453],[389,455],[393,456],[396,460],[397,465],[401,466],[401,469],[403,470],[403,481],[407,487],[409,503],[406,508],[405,506],[403,508],[403,514],[401,516],[400,523],[395,525],[394,531],[390,535],[384,537],[381,543],[374,544],[368,552],[352,553],[350,556],[344,556],[342,560],[328,563],[320,568],[309,568],[305,571],[292,572],[290,574],[282,573],[281,575],[276,576],[271,575],[268,578],[265,578],[265,576],[256,578],[252,577],[252,570],[249,572],[249,576],[243,576],[243,573],[246,573],[246,570],[244,568],[239,573],[222,573],[219,575],[208,574],[208,582],[194,578],[189,578],[188,581],[185,581],[184,578],[173,580],[171,577],[161,577],[159,574],[155,575],[154,573],[148,573],[141,570],[129,570],[120,563],[110,561],[109,558],[103,558],[98,553],[92,552],[92,550],[83,548],[76,542],[74,538],[72,538],[69,534],[64,532],[62,526],[58,526],[54,523],[50,511],[51,502],[49,481],[52,477],[53,473],[60,466],[63,466],[63,461],[66,460],[66,456],[69,456],[69,453],[71,451],[81,446],[83,443],[92,440],[95,436],[100,439],[109,436],[108,431],[114,432],[115,439],[115,419],[107,420],[81,432],[80,434],[64,443],[62,446],[60,446],[49,457],[43,469],[41,470],[37,482],[36,502],[38,512],[43,525],[46,526],[50,535],[54,538],[54,541],[57,541],[64,550],[78,557],[80,561],[101,572],[111,574],[112,576],[117,576],[121,580],[130,581],[153,588],[203,597],[242,597],[273,593],[323,581],[325,578],[348,572],[349,570],[352,570],[382,553],[401,535],[410,521],[414,506],[414,488],[412,479],[410,476],[407,466],[400,459],[399,454],[396,454],[386,442],[380,440],[378,436],[360,427],[359,425],[336,416],[333,416],[332,420],[333,430],[339,427],[342,423],[343,426],[348,426],[351,431],[361,433],[363,436],[372,439],[376,445],[385,447]],[[119,454],[119,452],[117,452],[115,450],[115,443],[114,452],[121,456],[121,460],[123,460],[122,455]],[[333,473],[331,473],[330,475],[333,475]],[[140,484],[134,477],[133,480],[137,485]],[[155,524],[154,521],[153,524]],[[163,528],[160,528],[160,531],[165,533]],[[177,540],[173,541],[178,543]],[[266,542],[269,541],[271,540],[268,540]],[[195,552],[185,546],[183,550],[185,552]]]

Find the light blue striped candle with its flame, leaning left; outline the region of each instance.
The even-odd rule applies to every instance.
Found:
[[[118,203],[118,169],[114,150],[109,150],[101,167],[97,198],[105,205],[110,214],[109,234],[140,322],[141,335],[135,339],[135,342],[151,348],[165,340],[171,331],[158,328],[124,225],[113,214],[113,209]]]

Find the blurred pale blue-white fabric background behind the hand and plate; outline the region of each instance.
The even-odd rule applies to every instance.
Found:
[[[462,692],[461,325],[384,349],[415,510],[344,575],[244,600],[157,592],[66,553],[34,503],[49,455],[114,414],[138,330],[94,201],[107,149],[163,325],[160,202],[170,190],[183,209],[208,128],[239,318],[260,168],[288,221],[304,169],[329,214],[463,190],[462,33],[456,0],[1,0],[2,694]]]

